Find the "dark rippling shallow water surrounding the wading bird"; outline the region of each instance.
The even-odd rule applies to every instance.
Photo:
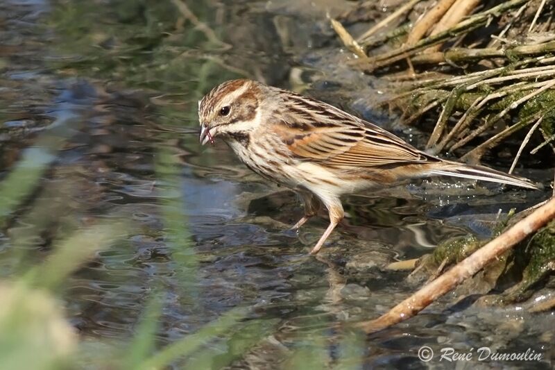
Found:
[[[522,210],[547,193],[444,179],[350,196],[323,253],[309,257],[325,218],[287,232],[302,215],[296,196],[251,174],[222,142],[200,147],[196,101],[216,83],[250,76],[343,106],[416,145],[422,136],[370,108],[384,83],[341,67],[348,56],[322,35],[330,34],[326,10],[349,1],[187,3],[212,31],[194,29],[171,1],[0,4],[0,176],[26,147],[41,147],[37,140],[62,137],[42,146],[51,158],[40,182],[0,234],[2,276],[22,268],[15,247],[40,262],[60,235],[125,219],[126,237],[64,287],[71,323],[93,345],[133,337],[148,297],[161,290],[160,345],[237,306],[271,323],[261,342],[235,353],[234,367],[285,366],[302,348],[323,351],[330,366],[341,359],[368,368],[447,366],[420,361],[421,346],[525,351],[533,343],[548,355],[552,315],[464,304],[432,305],[352,339],[343,323],[377,317],[416,289],[386,264],[468,231],[487,237],[499,209]],[[42,229],[28,237],[37,219]]]

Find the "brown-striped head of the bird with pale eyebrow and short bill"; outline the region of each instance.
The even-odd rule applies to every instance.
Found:
[[[200,143],[214,144],[214,137],[248,137],[258,124],[264,85],[250,80],[233,80],[214,87],[198,102]]]

